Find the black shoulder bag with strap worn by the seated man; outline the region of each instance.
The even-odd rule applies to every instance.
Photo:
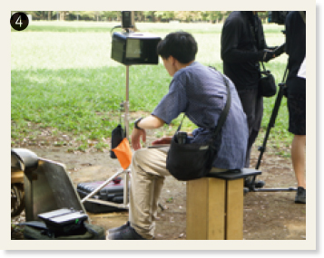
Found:
[[[166,159],[166,168],[170,174],[178,180],[189,181],[205,177],[212,167],[212,161],[217,156],[220,145],[215,147],[215,141],[221,142],[221,127],[227,118],[231,106],[231,91],[228,82],[226,84],[227,100],[224,110],[221,112],[217,127],[214,130],[212,140],[209,144],[197,143],[181,144],[177,139],[177,133],[182,127],[182,122],[172,137],[171,146]],[[184,119],[184,115],[183,115]],[[183,121],[182,119],[182,121]]]

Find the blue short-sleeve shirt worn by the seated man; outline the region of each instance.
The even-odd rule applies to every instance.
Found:
[[[237,169],[244,167],[248,146],[248,124],[241,100],[231,80],[231,108],[222,127],[221,147],[213,167]],[[170,124],[182,112],[199,127],[192,132],[191,142],[205,143],[211,139],[227,100],[226,85],[221,72],[199,62],[192,62],[173,75],[169,92],[152,115]]]

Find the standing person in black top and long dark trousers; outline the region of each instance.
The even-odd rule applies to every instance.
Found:
[[[257,11],[232,12],[221,32],[223,72],[234,82],[249,124],[245,167],[250,167],[250,149],[258,136],[263,115],[263,100],[258,90],[260,63],[274,58],[268,47]],[[256,183],[262,187],[264,182]]]

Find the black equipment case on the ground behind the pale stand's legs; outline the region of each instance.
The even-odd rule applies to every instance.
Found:
[[[98,186],[102,185],[104,181],[95,181],[90,183],[80,183],[76,187],[76,191],[81,198],[92,193]],[[117,177],[113,179],[108,185],[104,186],[92,198],[103,201],[113,202],[115,204],[123,204],[123,179]],[[85,201],[83,206],[87,212],[90,213],[110,213],[119,210],[120,208],[112,205],[95,204],[93,202]]]

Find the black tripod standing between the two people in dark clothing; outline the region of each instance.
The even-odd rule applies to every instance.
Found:
[[[286,82],[284,82],[284,81],[286,81],[287,71],[288,71],[288,69],[286,68],[286,71],[285,71],[285,73],[283,75],[282,82],[278,84],[279,92],[277,94],[277,98],[276,98],[276,101],[274,103],[274,107],[273,107],[273,110],[272,110],[272,113],[271,113],[270,121],[269,121],[267,130],[266,130],[266,134],[265,134],[265,137],[263,139],[262,146],[260,146],[258,148],[258,150],[260,151],[260,155],[259,155],[259,158],[258,158],[257,165],[255,167],[255,169],[257,169],[257,170],[260,167],[260,163],[261,163],[263,153],[266,150],[267,141],[268,141],[268,138],[269,138],[269,135],[270,135],[270,129],[274,127],[274,124],[275,124],[275,121],[277,119],[278,112],[279,112],[279,109],[280,109],[280,104],[281,104],[282,97],[284,96],[284,92],[287,90]],[[255,187],[255,178],[256,177],[257,176],[253,176],[252,179],[250,179],[250,182],[248,184],[249,192],[290,192],[290,191],[297,191],[297,188],[295,188],[295,187],[289,187],[289,188],[256,188]]]

